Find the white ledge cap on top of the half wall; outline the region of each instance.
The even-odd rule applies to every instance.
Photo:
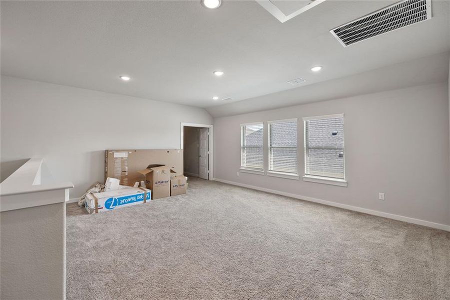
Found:
[[[42,160],[30,158],[0,183],[1,211],[64,202],[68,199],[68,188],[73,187],[72,182],[41,184]],[[42,192],[49,193],[44,195]],[[28,193],[40,194],[20,196]]]

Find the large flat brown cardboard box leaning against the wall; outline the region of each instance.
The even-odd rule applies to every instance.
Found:
[[[183,149],[105,150],[105,180],[117,178],[120,184],[133,186],[142,180],[138,172],[149,164],[164,164],[183,173]]]

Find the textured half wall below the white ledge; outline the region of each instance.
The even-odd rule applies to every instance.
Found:
[[[65,299],[65,203],[0,215],[1,298]]]

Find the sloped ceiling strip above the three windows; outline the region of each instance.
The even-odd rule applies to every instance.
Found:
[[[220,117],[443,82],[449,76],[449,56],[449,52],[444,52],[206,110],[213,117]]]

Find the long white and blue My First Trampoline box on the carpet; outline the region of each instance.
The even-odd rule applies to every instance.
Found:
[[[150,202],[151,190],[143,187],[122,188],[88,193],[84,207],[88,213],[97,213],[125,206]]]

